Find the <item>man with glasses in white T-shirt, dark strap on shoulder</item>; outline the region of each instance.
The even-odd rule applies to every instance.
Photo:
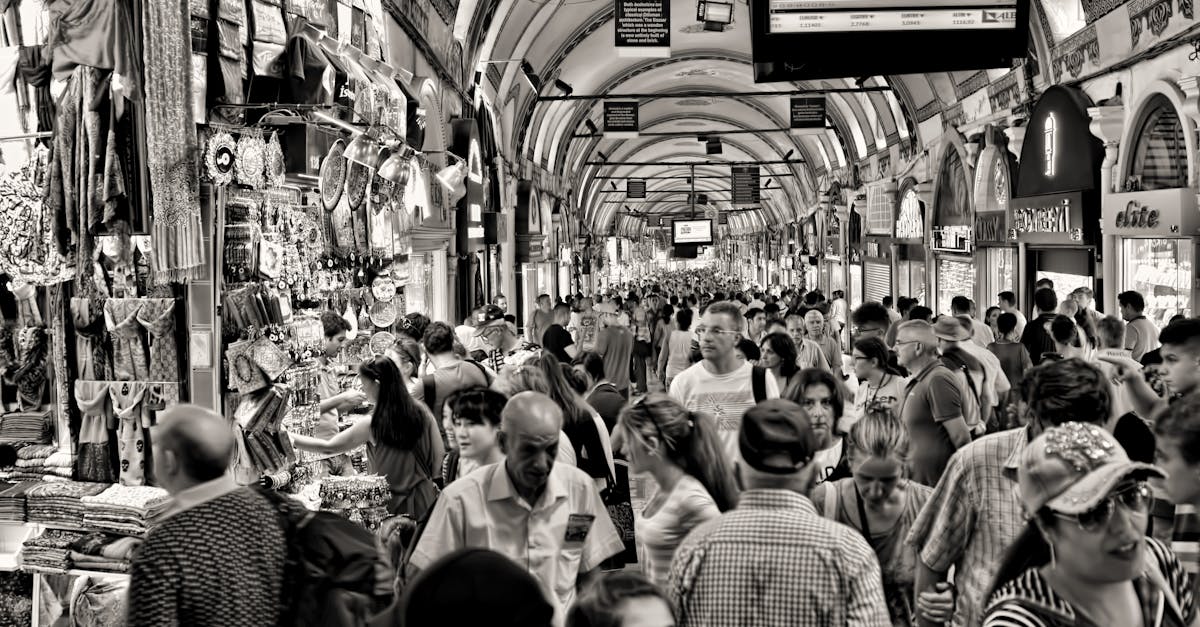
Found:
[[[730,301],[713,303],[696,328],[702,359],[684,370],[671,382],[671,396],[691,411],[704,412],[716,419],[718,434],[730,461],[738,459],[738,429],[742,416],[756,402],[779,398],[775,377],[738,358],[734,347],[743,336],[745,317]],[[763,390],[755,396],[755,377]]]

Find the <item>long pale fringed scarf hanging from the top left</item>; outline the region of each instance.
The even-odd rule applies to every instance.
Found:
[[[146,163],[157,282],[204,275],[187,0],[143,2]]]

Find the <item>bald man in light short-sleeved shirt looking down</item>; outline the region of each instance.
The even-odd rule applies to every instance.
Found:
[[[575,591],[624,549],[586,472],[554,464],[563,412],[536,392],[509,399],[500,414],[505,459],[446,486],[409,562],[409,577],[463,548],[491,549],[526,566],[563,625]]]

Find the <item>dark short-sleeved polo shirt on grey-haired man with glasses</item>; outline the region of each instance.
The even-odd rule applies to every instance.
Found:
[[[935,485],[954,454],[954,442],[942,425],[962,416],[962,387],[954,372],[934,363],[908,381],[900,417],[912,441],[912,479]]]

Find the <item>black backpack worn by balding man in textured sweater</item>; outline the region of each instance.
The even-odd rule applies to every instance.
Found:
[[[288,559],[280,625],[366,626],[394,599],[392,569],[374,533],[328,512],[310,512],[274,490]]]

